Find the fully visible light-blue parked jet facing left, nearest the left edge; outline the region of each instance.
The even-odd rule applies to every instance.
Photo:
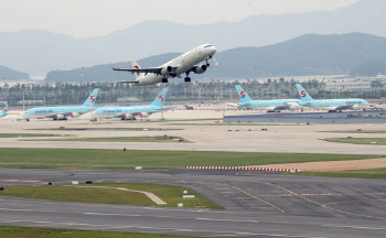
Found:
[[[94,89],[82,106],[31,108],[23,113],[23,117],[28,121],[30,118],[53,118],[54,120],[67,120],[67,117],[77,118],[95,109],[94,105],[98,93],[99,88]]]

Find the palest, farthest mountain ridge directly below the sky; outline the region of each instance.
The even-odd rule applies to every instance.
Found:
[[[385,0],[358,0],[333,11],[258,14],[239,22],[193,25],[152,20],[90,39],[40,30],[3,32],[0,33],[0,65],[43,75],[53,69],[68,71],[165,52],[184,52],[204,43],[225,51],[270,45],[310,33],[363,32],[386,36],[385,9]]]

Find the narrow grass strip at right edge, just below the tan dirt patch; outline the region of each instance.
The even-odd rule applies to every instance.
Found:
[[[292,173],[307,176],[333,176],[333,177],[360,177],[360,178],[386,178],[386,167],[372,170],[355,170],[343,172],[301,172]]]

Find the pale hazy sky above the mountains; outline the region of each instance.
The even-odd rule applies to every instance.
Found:
[[[333,10],[356,1],[0,0],[0,32],[40,29],[75,37],[89,37],[124,30],[146,20],[206,24],[240,21],[254,14]]]

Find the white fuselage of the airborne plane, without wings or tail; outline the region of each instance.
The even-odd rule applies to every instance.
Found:
[[[139,77],[138,86],[143,85],[153,85],[162,82],[162,78],[170,78],[174,76],[180,76],[181,74],[185,74],[187,71],[190,71],[193,66],[196,64],[211,58],[216,53],[216,48],[212,45],[200,45],[182,55],[180,55],[176,58],[171,60],[170,62],[161,65],[160,67],[176,67],[172,74],[169,75],[157,75],[157,74],[147,74],[142,77]]]

